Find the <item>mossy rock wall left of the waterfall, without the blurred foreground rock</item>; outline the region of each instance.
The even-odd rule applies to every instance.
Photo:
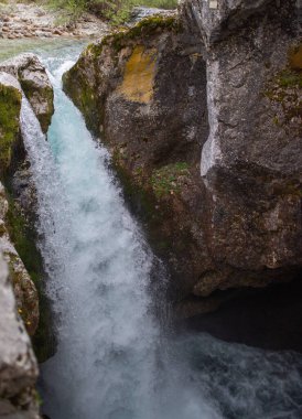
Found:
[[[43,265],[35,245],[36,193],[30,162],[20,133],[22,89],[12,74],[19,77],[24,88],[28,86],[28,80],[33,80],[32,85],[29,83],[33,90],[29,88],[26,95],[29,100],[36,105],[37,116],[41,110],[40,105],[42,109],[53,109],[53,103],[47,96],[50,88],[52,92],[52,87],[44,67],[32,54],[8,61],[2,68],[11,74],[0,73],[0,108],[7,110],[7,112],[0,114],[0,158],[6,161],[6,165],[1,165],[0,179],[7,189],[6,194],[2,185],[0,189],[0,250],[9,266],[10,280],[13,284],[19,313],[29,334],[33,335],[34,342],[39,344],[37,355],[41,359],[45,359],[46,351],[43,345],[45,343],[44,335],[50,330],[50,320],[47,301],[41,289],[41,279],[44,278]],[[34,86],[37,90],[34,89]],[[47,125],[50,118],[51,115]],[[3,121],[6,123],[2,123]],[[10,142],[9,148],[6,149],[7,142],[4,140],[7,138],[10,139]],[[3,150],[7,150],[7,154]],[[40,296],[37,296],[36,288]],[[39,307],[42,307],[41,315]]]

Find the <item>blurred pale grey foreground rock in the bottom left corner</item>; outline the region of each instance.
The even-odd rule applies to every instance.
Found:
[[[0,417],[37,419],[37,366],[0,257]]]

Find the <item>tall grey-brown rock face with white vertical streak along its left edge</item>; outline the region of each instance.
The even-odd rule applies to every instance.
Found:
[[[302,75],[289,64],[299,50],[298,9],[295,1],[209,3],[184,3],[186,28],[207,50],[207,243],[233,269],[216,287],[261,286],[302,264]]]

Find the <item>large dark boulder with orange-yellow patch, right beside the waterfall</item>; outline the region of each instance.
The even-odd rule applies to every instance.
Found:
[[[208,133],[201,45],[175,17],[151,17],[89,45],[63,78],[112,151],[132,203],[142,205],[149,239],[173,270],[173,288],[177,282],[191,292],[206,265],[197,227],[199,153]]]

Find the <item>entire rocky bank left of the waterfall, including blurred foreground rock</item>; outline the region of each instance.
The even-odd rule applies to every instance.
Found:
[[[0,65],[0,179],[7,186],[0,183],[0,417],[11,419],[39,417],[37,366],[26,332],[34,335],[40,321],[42,265],[33,240],[35,190],[20,128],[23,95],[45,131],[53,90],[32,54]]]

